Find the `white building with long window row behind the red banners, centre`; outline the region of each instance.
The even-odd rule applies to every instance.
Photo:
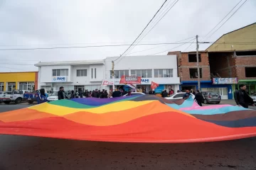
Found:
[[[123,56],[107,57],[105,60],[105,79],[104,81],[112,82],[112,61],[114,61],[114,85],[115,88],[124,84],[119,84],[120,78],[125,76],[142,77],[140,87],[149,91],[151,81],[159,84],[155,90],[156,93],[162,90],[168,90],[168,86],[172,86],[174,91],[179,89],[180,78],[177,73],[176,55],[151,55],[151,56]],[[104,89],[104,88],[103,88]],[[112,89],[107,86],[105,89]]]

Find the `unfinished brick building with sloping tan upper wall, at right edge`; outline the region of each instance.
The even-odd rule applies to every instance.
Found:
[[[222,35],[206,49],[210,72],[219,77],[238,77],[248,94],[256,93],[256,23]],[[238,89],[233,84],[233,91]]]

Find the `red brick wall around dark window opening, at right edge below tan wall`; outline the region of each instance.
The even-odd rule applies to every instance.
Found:
[[[256,77],[245,77],[245,67],[256,67],[256,56],[235,57],[235,66],[238,79],[256,79]]]

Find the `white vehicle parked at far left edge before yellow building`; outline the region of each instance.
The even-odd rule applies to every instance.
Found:
[[[16,104],[21,103],[23,100],[23,94],[25,91],[6,91],[3,94],[0,94],[0,100],[3,101],[5,104],[9,104],[11,102],[15,102]]]

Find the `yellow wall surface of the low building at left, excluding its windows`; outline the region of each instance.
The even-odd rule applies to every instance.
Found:
[[[31,81],[36,85],[36,72],[4,72],[0,73],[0,83],[4,82],[4,91],[6,91],[7,82],[16,82],[16,89],[18,89],[18,82]]]

